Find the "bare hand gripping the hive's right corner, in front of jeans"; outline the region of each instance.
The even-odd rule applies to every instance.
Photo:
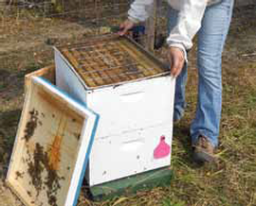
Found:
[[[184,52],[178,47],[171,46],[168,59],[171,64],[171,76],[178,77],[185,63]]]

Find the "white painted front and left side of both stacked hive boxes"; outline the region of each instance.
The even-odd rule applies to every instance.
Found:
[[[57,86],[101,115],[86,171],[90,185],[131,176],[135,171],[141,173],[170,165],[171,155],[160,161],[150,161],[150,157],[162,130],[167,133],[169,142],[172,140],[174,78],[152,77],[88,90],[57,50],[55,60]],[[142,142],[123,147],[123,142],[134,141],[142,135],[141,130],[145,130]],[[122,150],[119,147],[123,147]],[[138,150],[141,150],[139,163],[134,158]]]

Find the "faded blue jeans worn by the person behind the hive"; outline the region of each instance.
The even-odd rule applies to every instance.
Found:
[[[218,146],[222,109],[222,51],[229,31],[233,0],[208,7],[202,26],[198,31],[197,67],[198,96],[195,117],[191,125],[192,144],[199,135],[210,140],[212,146]],[[177,23],[178,11],[169,10],[169,31]],[[185,87],[188,77],[188,65],[184,65],[176,79],[174,99],[174,120],[179,120],[186,107]]]

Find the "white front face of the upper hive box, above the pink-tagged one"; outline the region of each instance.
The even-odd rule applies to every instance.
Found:
[[[101,113],[96,139],[161,123],[171,125],[171,96],[170,77],[127,83],[115,89],[105,88],[87,94],[87,106]]]

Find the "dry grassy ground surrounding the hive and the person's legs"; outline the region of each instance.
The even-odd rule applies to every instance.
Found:
[[[255,206],[256,205],[256,5],[235,9],[223,57],[223,116],[216,165],[192,163],[188,129],[196,100],[196,47],[190,55],[188,108],[174,127],[168,188],[101,203],[81,193],[80,206]],[[52,44],[78,42],[90,29],[61,19],[27,16],[0,22],[0,206],[22,206],[4,180],[23,101],[24,76],[53,63]],[[82,190],[84,191],[84,190]]]

